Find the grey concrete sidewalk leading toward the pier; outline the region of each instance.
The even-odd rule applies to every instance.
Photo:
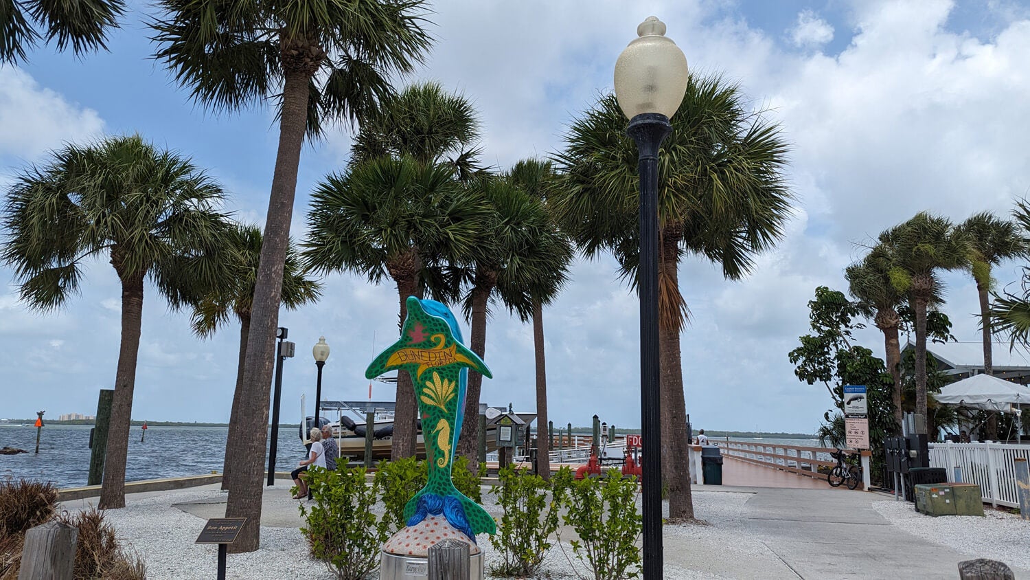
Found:
[[[666,532],[666,562],[741,579],[941,579],[958,578],[958,562],[975,557],[892,525],[871,508],[873,502],[894,501],[879,493],[829,488],[724,490],[752,493],[741,519],[725,522],[739,527],[734,536],[741,545],[726,545],[723,538],[718,545],[706,545],[703,534],[684,545]],[[774,558],[744,549],[744,544],[756,542],[764,544]],[[1012,571],[1017,578],[1030,579],[1030,571]]]

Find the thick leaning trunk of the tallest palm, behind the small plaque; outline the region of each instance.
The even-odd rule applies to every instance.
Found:
[[[313,71],[312,71],[313,73]],[[268,217],[265,220],[261,262],[254,284],[250,311],[250,332],[243,368],[238,422],[241,433],[235,444],[239,447],[232,468],[227,517],[245,517],[246,523],[236,542],[229,546],[233,553],[252,552],[261,541],[262,480],[268,445],[269,388],[275,360],[275,329],[279,326],[279,300],[282,294],[282,271],[289,242],[289,221],[294,215],[294,195],[297,172],[301,163],[301,147],[308,123],[308,82],[311,73],[285,71],[282,89],[282,111],[279,117],[279,150],[272,176]]]

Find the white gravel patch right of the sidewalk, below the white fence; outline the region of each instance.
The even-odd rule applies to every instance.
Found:
[[[917,512],[907,502],[872,502],[872,509],[905,532],[969,554],[996,559],[1010,567],[1030,569],[1030,521],[999,510],[986,509],[985,517]]]

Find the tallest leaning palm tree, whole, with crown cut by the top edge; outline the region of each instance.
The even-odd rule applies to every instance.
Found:
[[[161,0],[159,6],[163,18],[150,25],[156,58],[197,102],[238,110],[279,92],[279,147],[241,381],[240,419],[251,437],[236,442],[240,477],[232,480],[227,506],[230,517],[247,517],[231,550],[248,552],[261,535],[268,384],[301,146],[328,122],[373,114],[391,93],[389,77],[421,62],[431,39],[422,0]]]

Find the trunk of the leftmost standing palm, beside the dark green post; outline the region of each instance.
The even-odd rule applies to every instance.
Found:
[[[129,425],[132,422],[132,396],[136,386],[136,361],[143,325],[143,273],[122,278],[122,346],[118,369],[114,375],[114,403],[107,431],[104,454],[104,479],[99,508],[126,507],[126,460],[129,457]]]

